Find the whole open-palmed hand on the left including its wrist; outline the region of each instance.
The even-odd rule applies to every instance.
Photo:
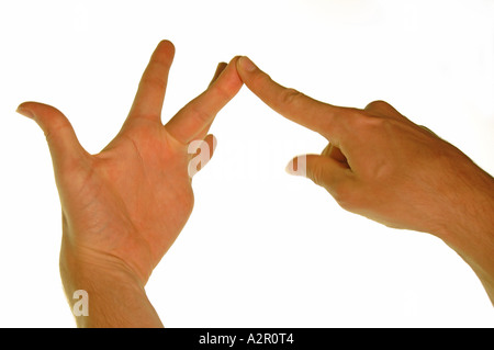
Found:
[[[64,289],[70,304],[77,290],[89,297],[89,316],[76,317],[79,327],[162,326],[144,287],[192,212],[188,145],[204,140],[212,156],[211,123],[243,84],[237,57],[220,64],[210,87],[164,125],[173,55],[170,42],[159,43],[120,133],[97,155],[82,148],[55,108],[24,102],[18,109],[41,126],[52,154]]]

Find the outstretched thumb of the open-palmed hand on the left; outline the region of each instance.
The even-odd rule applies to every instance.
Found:
[[[80,155],[86,154],[72,125],[57,109],[37,102],[24,102],[16,112],[34,120],[43,129],[55,168],[79,160]]]

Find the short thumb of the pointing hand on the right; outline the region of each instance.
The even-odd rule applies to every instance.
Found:
[[[348,179],[348,171],[341,162],[319,155],[297,156],[287,166],[288,173],[306,177],[334,195],[338,184]]]

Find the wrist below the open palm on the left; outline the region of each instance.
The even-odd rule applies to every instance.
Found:
[[[60,276],[78,327],[162,327],[141,279],[120,259],[60,251]]]

